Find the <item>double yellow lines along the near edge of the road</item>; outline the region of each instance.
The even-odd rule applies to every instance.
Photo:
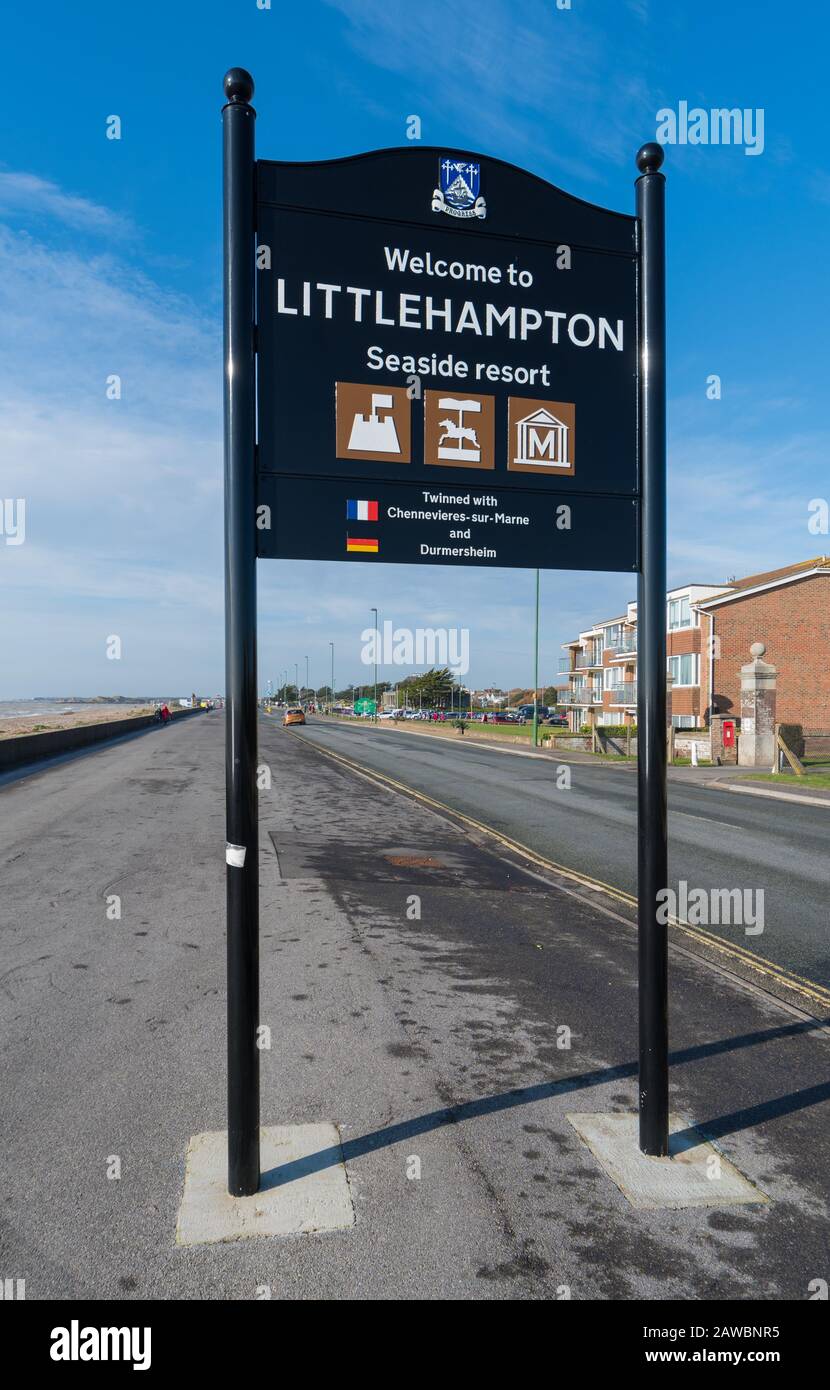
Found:
[[[352,758],[346,758],[345,753],[335,753],[331,748],[323,748],[320,744],[314,744],[307,738],[303,739],[303,742],[314,748],[318,753],[323,753],[325,758],[332,758],[335,762],[342,763],[345,767],[359,773],[361,777],[368,777],[370,781],[378,783],[381,787],[391,787],[393,791],[400,791],[406,796],[413,796],[416,801],[423,802],[423,805],[430,806],[432,810],[446,812],[448,815],[455,816],[457,820],[464,821],[466,826],[471,826],[474,830],[488,835],[491,840],[496,840],[501,845],[505,845],[505,848],[521,855],[523,859],[530,860],[530,863],[537,865],[539,869],[562,874],[562,877],[569,878],[573,883],[578,883],[584,888],[594,888],[595,891],[613,898],[616,902],[621,902],[627,908],[637,910],[637,898],[633,894],[626,892],[623,888],[615,888],[613,884],[605,883],[602,878],[592,878],[589,874],[580,873],[576,869],[566,867],[566,865],[556,863],[555,859],[548,859],[545,855],[537,853],[535,849],[528,849],[528,847],[523,845],[519,840],[512,840],[509,835],[502,834],[501,830],[494,830],[492,826],[487,826],[482,820],[475,820],[473,816],[467,816],[463,810],[456,810],[455,806],[448,806],[445,802],[437,801],[435,796],[428,796],[427,792],[417,791],[406,783],[396,781],[386,773],[380,773],[374,767],[364,767]],[[765,960],[763,956],[756,955],[754,951],[747,951],[745,947],[727,942],[713,931],[706,931],[703,927],[692,927],[688,922],[681,922],[680,917],[670,917],[669,922],[670,926],[676,927],[677,931],[681,931],[683,935],[703,942],[720,955],[740,960],[756,974],[762,974],[767,980],[774,980],[777,984],[786,986],[788,990],[812,999],[815,1004],[830,1008],[830,990],[826,990],[823,986],[815,984],[812,980],[806,980],[804,976],[797,974],[794,970],[787,970],[784,966],[772,965],[772,962]]]

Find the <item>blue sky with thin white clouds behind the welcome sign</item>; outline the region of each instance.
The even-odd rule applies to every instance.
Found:
[[[830,549],[808,531],[830,491],[829,26],[819,0],[13,7],[25,89],[0,114],[0,498],[26,499],[26,541],[0,538],[0,698],[222,688],[218,113],[234,64],[256,78],[263,157],[403,145],[417,114],[425,143],[621,211],[660,108],[763,108],[762,154],[666,150],[670,582]],[[261,563],[261,685],[306,655],[323,684],[329,641],[338,685],[366,681],[371,605],[395,626],[467,627],[473,684],[530,682],[532,592],[531,571]],[[633,596],[631,577],[545,573],[544,678],[562,641]]]

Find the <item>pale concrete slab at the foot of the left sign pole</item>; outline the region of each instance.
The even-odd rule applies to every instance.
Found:
[[[336,1125],[261,1129],[260,1163],[260,1191],[253,1197],[229,1197],[227,1133],[195,1134],[185,1159],[177,1245],[310,1234],[355,1225]]]

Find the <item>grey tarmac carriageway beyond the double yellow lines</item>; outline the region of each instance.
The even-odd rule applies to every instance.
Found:
[[[551,762],[460,738],[311,720],[303,737],[484,821],[569,869],[637,892],[637,781],[630,767]],[[763,891],[763,931],[708,924],[729,941],[830,986],[830,806],[669,784],[669,876],[677,888]],[[680,915],[680,913],[678,913]],[[760,924],[759,922],[754,923]]]

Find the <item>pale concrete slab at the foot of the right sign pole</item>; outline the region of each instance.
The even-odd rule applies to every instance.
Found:
[[[727,1207],[769,1197],[681,1115],[669,1116],[669,1158],[640,1151],[638,1115],[569,1115],[594,1158],[633,1207]]]

